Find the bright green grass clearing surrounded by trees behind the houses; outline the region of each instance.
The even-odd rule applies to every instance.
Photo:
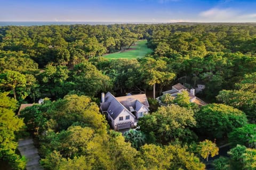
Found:
[[[153,52],[150,48],[146,45],[147,40],[137,41],[135,46],[131,46],[131,50],[125,50],[124,52],[117,52],[112,54],[107,54],[104,57],[108,59],[117,59],[117,58],[141,58],[145,57],[145,55]]]

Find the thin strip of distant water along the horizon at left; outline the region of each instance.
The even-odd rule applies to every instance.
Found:
[[[89,24],[89,25],[108,25],[108,24],[115,24],[115,23],[125,23],[125,22],[43,22],[43,21],[0,21],[1,26],[7,25],[15,25],[15,26],[41,26],[41,25],[73,25],[73,24]],[[139,22],[129,22],[129,23],[139,23]],[[141,22],[140,22],[141,23]],[[150,23],[150,22],[145,22]]]

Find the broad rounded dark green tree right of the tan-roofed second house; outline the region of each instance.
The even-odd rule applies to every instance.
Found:
[[[209,137],[223,138],[235,128],[247,123],[246,115],[236,108],[223,104],[202,106],[196,113],[198,131]]]

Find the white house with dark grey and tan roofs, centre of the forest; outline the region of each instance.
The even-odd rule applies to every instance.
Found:
[[[110,92],[101,94],[100,110],[115,130],[132,128],[137,125],[139,117],[149,112],[145,94],[115,97]]]

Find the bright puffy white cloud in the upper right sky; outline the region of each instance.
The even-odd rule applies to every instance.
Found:
[[[222,21],[226,19],[232,19],[235,16],[237,16],[237,14],[238,12],[231,8],[211,8],[210,10],[199,13],[199,16],[202,16],[203,18],[207,19]]]

